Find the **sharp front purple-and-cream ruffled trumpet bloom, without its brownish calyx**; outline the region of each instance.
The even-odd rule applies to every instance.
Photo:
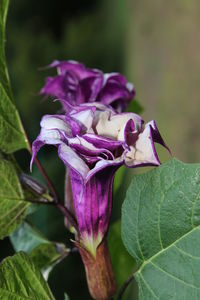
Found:
[[[159,165],[155,142],[166,147],[155,121],[144,125],[139,115],[98,102],[42,118],[31,166],[43,145],[57,147],[70,174],[79,240],[94,256],[108,229],[116,170]]]

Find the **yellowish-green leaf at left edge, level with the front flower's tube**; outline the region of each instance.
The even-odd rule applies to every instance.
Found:
[[[29,207],[24,199],[15,167],[0,160],[0,239],[14,231],[26,216]]]

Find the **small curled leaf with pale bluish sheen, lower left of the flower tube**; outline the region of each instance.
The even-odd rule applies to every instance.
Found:
[[[50,242],[26,222],[10,236],[10,240],[16,252],[29,254],[46,279],[53,267],[69,254],[64,244]]]

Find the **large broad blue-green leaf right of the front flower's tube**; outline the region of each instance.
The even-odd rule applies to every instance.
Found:
[[[140,267],[140,300],[200,299],[200,165],[173,159],[135,176],[122,238]]]

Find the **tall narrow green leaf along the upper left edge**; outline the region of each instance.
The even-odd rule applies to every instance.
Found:
[[[9,1],[0,2],[0,150],[9,154],[29,149],[18,111],[13,103],[5,58],[5,26]]]

